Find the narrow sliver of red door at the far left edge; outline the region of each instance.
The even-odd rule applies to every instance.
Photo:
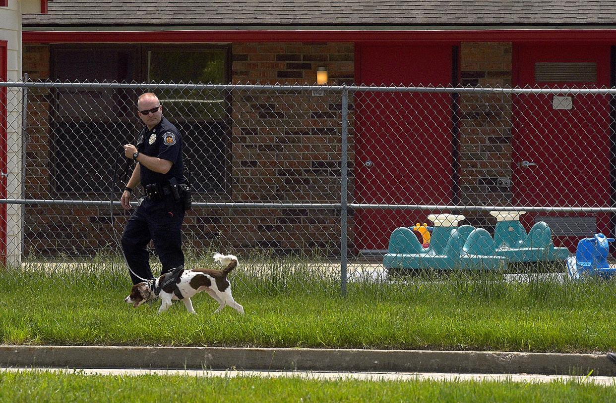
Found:
[[[0,41],[0,81],[7,81],[7,41]],[[7,153],[7,89],[0,88],[0,172],[6,173]],[[0,198],[6,199],[6,175],[0,176]],[[6,263],[6,204],[0,204],[0,260]]]

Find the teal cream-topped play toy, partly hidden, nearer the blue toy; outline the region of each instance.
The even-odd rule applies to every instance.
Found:
[[[506,257],[512,263],[564,261],[569,256],[569,249],[554,247],[552,230],[543,221],[535,223],[527,234],[520,222],[520,216],[524,213],[490,212],[490,215],[496,217],[496,255]]]

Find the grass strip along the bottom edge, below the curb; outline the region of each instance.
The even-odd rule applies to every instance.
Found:
[[[0,373],[0,402],[614,402],[616,388],[553,381],[360,381]]]

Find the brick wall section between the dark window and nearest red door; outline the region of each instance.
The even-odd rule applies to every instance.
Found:
[[[235,84],[315,84],[325,66],[329,84],[351,84],[354,46],[336,43],[233,45]],[[236,91],[233,95],[232,192],[235,201],[338,203],[340,121],[338,94],[311,91]],[[352,147],[352,146],[351,146]],[[353,159],[352,154],[349,156]],[[351,164],[352,167],[352,164]],[[229,212],[235,244],[299,252],[338,253],[335,210]]]

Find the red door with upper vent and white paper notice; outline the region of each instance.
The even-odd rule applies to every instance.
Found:
[[[609,60],[609,46],[521,46],[517,84],[609,87]],[[518,95],[514,108],[514,202],[609,206],[609,97],[565,92]],[[607,213],[538,212],[522,217],[530,227],[537,216],[554,223],[554,244],[572,252],[581,237],[609,229]]]

